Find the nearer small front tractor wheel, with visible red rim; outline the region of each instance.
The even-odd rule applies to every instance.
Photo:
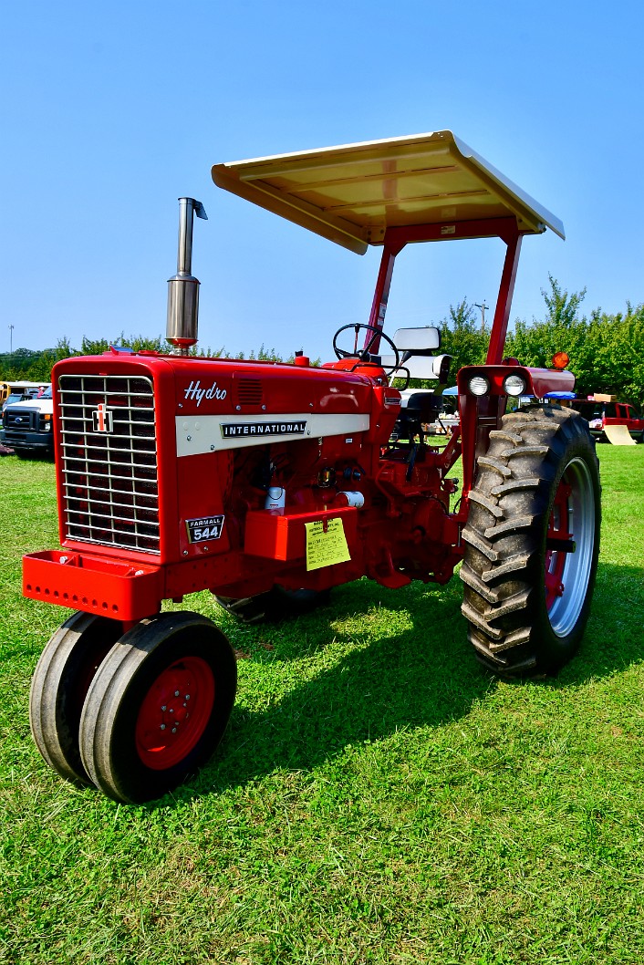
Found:
[[[210,758],[237,690],[235,653],[196,613],[142,620],[100,665],[80,720],[92,781],[126,803],[152,801]]]

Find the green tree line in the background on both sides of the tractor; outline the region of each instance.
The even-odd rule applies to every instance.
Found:
[[[585,289],[568,292],[551,275],[548,283],[548,289],[542,290],[545,317],[531,322],[518,319],[508,333],[505,354],[518,358],[522,365],[547,369],[554,353],[565,351],[571,360],[569,369],[576,376],[578,395],[605,392],[638,408],[644,407],[644,304],[633,306],[627,302],[623,313],[610,315],[598,308],[585,316],[580,314]],[[485,362],[490,327],[481,325],[475,306],[466,298],[450,306],[447,317],[441,319],[438,327],[441,351],[453,356],[454,377],[464,365]],[[167,350],[167,343],[160,336],[127,338],[122,333],[111,343],[107,339],[84,338],[79,349],[73,348],[67,339],[61,339],[54,348],[43,351],[18,348],[12,355],[0,354],[0,379],[47,382],[52,366],[60,359],[70,355],[97,355],[107,351],[110,345],[123,345],[135,351]],[[200,348],[199,354],[210,358],[244,358],[243,353],[231,356],[223,347],[216,351]],[[274,349],[266,349],[264,345],[246,358],[285,361]]]

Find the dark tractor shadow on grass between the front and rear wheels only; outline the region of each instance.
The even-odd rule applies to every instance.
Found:
[[[414,612],[416,603],[422,606]],[[392,623],[400,611],[409,629],[375,635],[369,617],[380,605],[392,613]],[[349,745],[460,719],[496,686],[473,657],[460,606],[460,595],[445,588],[406,594],[360,583],[334,596],[324,620],[320,611],[297,620],[300,658],[320,655],[331,641],[350,649],[332,663],[322,661],[322,671],[291,684],[266,709],[238,705],[220,751],[187,793],[244,785],[279,768],[309,771]],[[352,617],[349,628],[341,629],[342,620]],[[273,639],[274,651],[252,653],[253,660],[270,662],[276,675],[297,658],[298,634],[288,625],[288,639],[280,638],[279,624],[262,631]]]

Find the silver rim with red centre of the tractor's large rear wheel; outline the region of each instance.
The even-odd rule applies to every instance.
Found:
[[[553,632],[566,637],[583,607],[595,546],[596,507],[587,463],[574,458],[557,487],[547,537],[574,541],[574,550],[546,550],[546,609]]]

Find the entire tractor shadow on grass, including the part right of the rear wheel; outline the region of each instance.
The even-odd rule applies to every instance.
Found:
[[[574,690],[639,662],[644,657],[642,586],[640,567],[601,565],[579,652],[558,676],[530,685]],[[392,614],[393,625],[397,614],[404,614],[409,629],[374,639],[369,619],[379,606]],[[280,664],[314,657],[334,638],[342,644],[344,636],[352,648],[282,699],[269,698],[266,709],[238,705],[219,752],[180,796],[243,786],[281,768],[311,771],[350,745],[466,716],[498,686],[498,678],[476,661],[460,607],[460,587],[401,593],[361,581],[334,594],[331,605],[316,615],[259,632],[255,628],[260,643],[252,659],[272,663],[276,674]],[[340,629],[351,617],[349,630]],[[274,650],[262,648],[263,635],[274,641]]]

